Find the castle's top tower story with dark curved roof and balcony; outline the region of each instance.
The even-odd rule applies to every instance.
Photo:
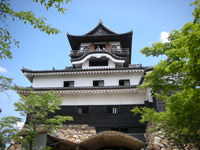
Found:
[[[117,68],[128,67],[131,63],[132,34],[118,34],[102,21],[85,35],[67,34],[74,68]]]

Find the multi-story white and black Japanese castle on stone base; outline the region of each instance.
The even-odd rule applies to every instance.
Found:
[[[152,68],[131,64],[132,35],[132,31],[118,34],[100,21],[82,36],[67,34],[71,67],[22,69],[36,93],[53,90],[62,97],[57,114],[74,118],[56,135],[38,137],[37,145],[52,145],[53,150],[144,147],[146,125],[139,123],[140,116],[130,110],[155,103],[149,89],[138,88]]]

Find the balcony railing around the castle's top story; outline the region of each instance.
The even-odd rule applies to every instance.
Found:
[[[112,53],[114,55],[120,56],[120,55],[128,55],[130,54],[129,48],[121,48],[121,49],[86,49],[86,50],[72,50],[70,56],[71,57],[80,57],[83,56],[89,52],[108,52]]]

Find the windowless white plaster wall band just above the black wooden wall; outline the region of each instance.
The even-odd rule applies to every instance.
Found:
[[[115,94],[80,94],[62,95],[61,105],[130,105],[144,104],[145,94],[115,93]]]

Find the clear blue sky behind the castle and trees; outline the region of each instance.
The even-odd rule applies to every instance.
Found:
[[[161,33],[180,29],[192,21],[191,0],[72,0],[63,15],[56,9],[46,11],[32,0],[10,0],[14,10],[32,10],[36,16],[47,18],[47,23],[61,30],[58,35],[47,35],[29,24],[9,18],[6,28],[20,41],[20,48],[12,47],[13,59],[1,60],[0,75],[13,78],[20,86],[31,83],[22,74],[22,66],[29,69],[63,69],[71,66],[70,45],[66,33],[82,35],[93,29],[99,20],[117,33],[133,31],[132,63],[153,66],[160,58],[145,57],[140,50],[161,41]],[[1,27],[5,25],[1,22]],[[0,118],[17,115],[13,103],[19,96],[13,91],[0,93]]]

